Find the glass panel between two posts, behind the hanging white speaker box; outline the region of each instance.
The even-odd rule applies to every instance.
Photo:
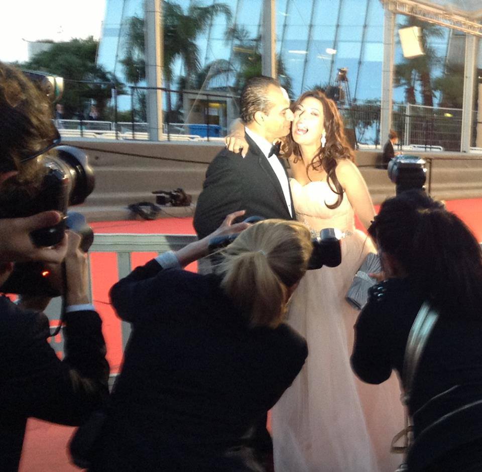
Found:
[[[396,33],[394,126],[404,146],[459,151],[465,35],[415,18],[397,17],[398,28],[420,28],[423,55],[404,57]],[[416,35],[413,35],[415,38]]]

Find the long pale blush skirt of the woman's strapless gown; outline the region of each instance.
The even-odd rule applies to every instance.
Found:
[[[276,472],[393,472],[390,453],[403,428],[395,374],[368,385],[349,363],[358,311],[345,301],[370,250],[356,231],[342,240],[342,263],[308,271],[293,294],[288,323],[306,337],[307,361],[272,412]]]

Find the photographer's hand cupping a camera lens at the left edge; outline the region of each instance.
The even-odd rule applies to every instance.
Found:
[[[52,248],[38,248],[30,238],[32,231],[54,226],[60,218],[60,213],[52,210],[25,218],[0,219],[0,261],[61,262],[67,251],[67,238]]]

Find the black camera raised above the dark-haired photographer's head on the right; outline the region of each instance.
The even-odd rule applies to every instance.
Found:
[[[417,156],[401,154],[390,160],[387,167],[388,176],[395,184],[396,194],[406,190],[425,190],[425,161]]]

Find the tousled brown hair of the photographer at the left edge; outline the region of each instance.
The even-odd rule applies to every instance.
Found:
[[[0,62],[0,172],[17,170],[9,182],[30,181],[39,173],[38,160],[20,163],[48,146],[57,136],[52,107],[45,95],[19,69]]]

